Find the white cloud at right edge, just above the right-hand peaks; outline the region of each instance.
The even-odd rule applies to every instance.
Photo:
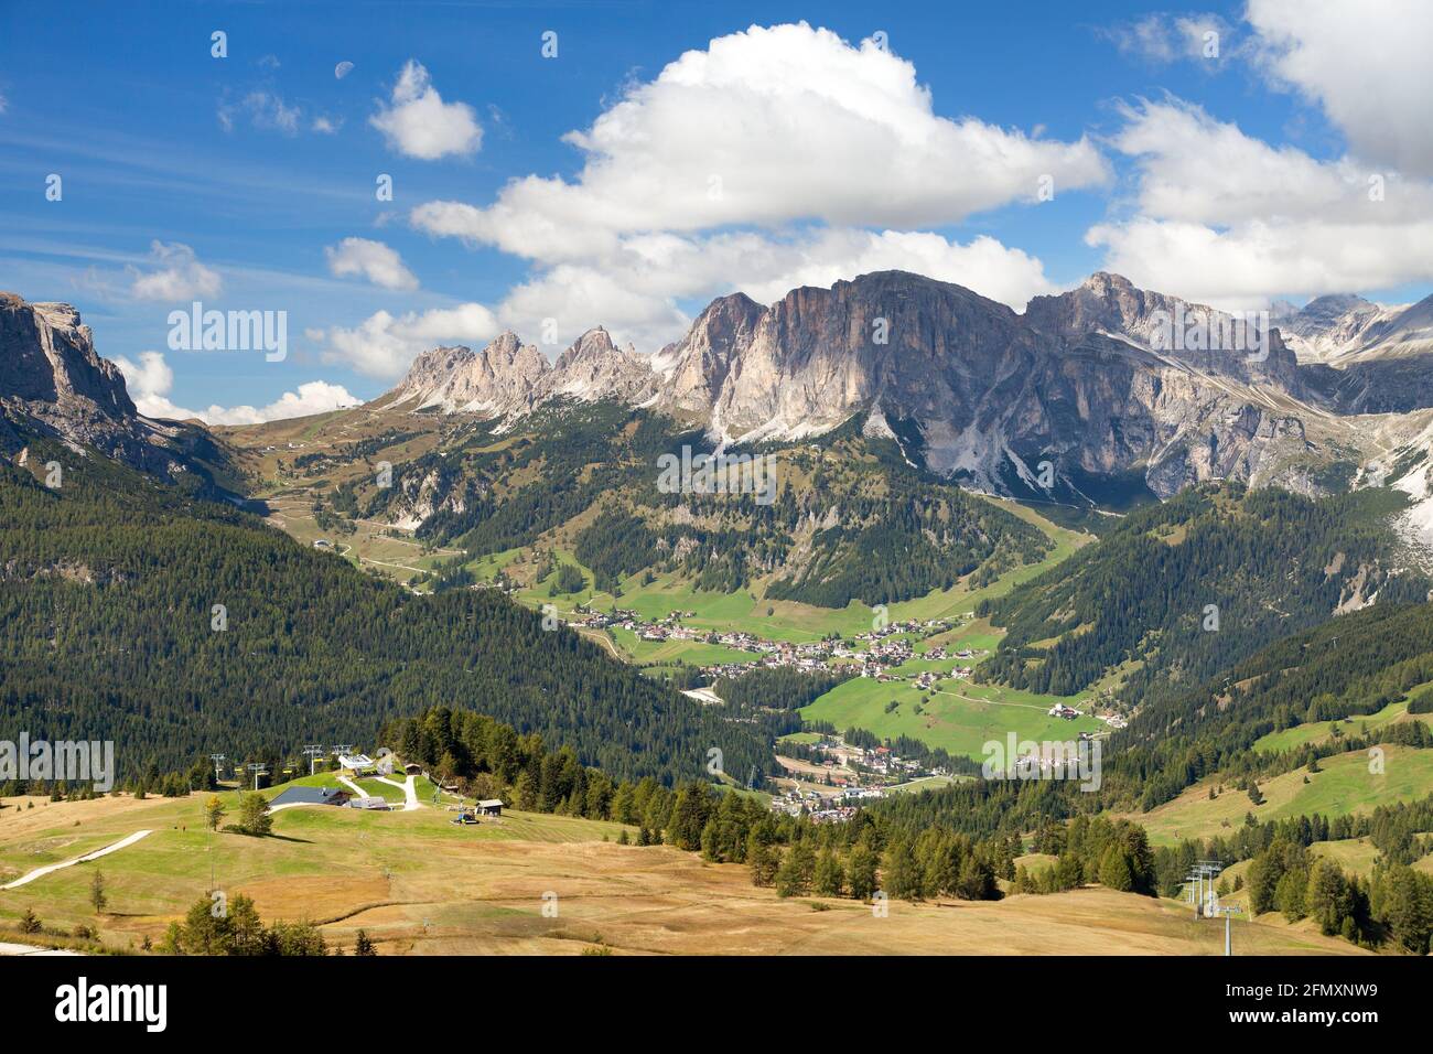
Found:
[[[1086,234],[1109,270],[1227,308],[1433,280],[1433,184],[1275,148],[1178,99],[1123,116],[1135,211]]]

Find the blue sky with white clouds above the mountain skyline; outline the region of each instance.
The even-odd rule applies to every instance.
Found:
[[[1427,6],[1091,7],[11,1],[0,288],[215,422],[506,327],[653,351],[712,295],[878,267],[1016,310],[1099,268],[1224,307],[1429,293]],[[168,347],[192,300],[287,311],[287,357]]]

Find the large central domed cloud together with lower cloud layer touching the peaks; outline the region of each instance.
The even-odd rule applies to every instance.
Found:
[[[919,228],[1109,179],[1086,138],[940,116],[910,62],[805,23],[686,52],[565,138],[583,155],[572,179],[517,178],[486,205],[424,202],[410,222],[533,261],[497,307],[520,333],[600,323],[643,350],[681,334],[684,300],[770,300],[880,268],[1023,307],[1050,290],[1039,260]]]

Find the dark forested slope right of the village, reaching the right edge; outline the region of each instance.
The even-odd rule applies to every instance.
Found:
[[[1125,665],[1129,703],[1166,698],[1281,637],[1370,604],[1422,602],[1386,490],[1313,500],[1185,490],[982,607],[1009,634],[977,678],[1069,695]]]

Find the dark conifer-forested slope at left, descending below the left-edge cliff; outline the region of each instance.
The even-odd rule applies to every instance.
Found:
[[[33,469],[66,466],[47,489]],[[112,739],[120,779],[466,706],[615,776],[765,771],[747,726],[494,591],[414,597],[226,505],[32,437],[0,465],[0,724]],[[224,607],[225,628],[215,605]],[[374,746],[374,744],[367,744]]]

